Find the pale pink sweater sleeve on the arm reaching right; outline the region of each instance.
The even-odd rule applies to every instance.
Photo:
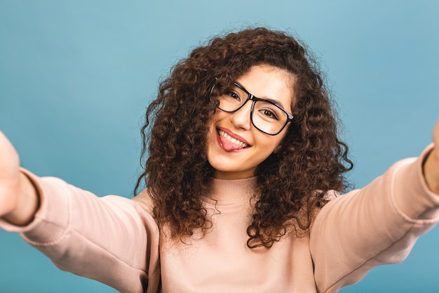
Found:
[[[328,202],[310,235],[318,292],[338,292],[372,268],[403,261],[417,238],[439,221],[439,195],[419,158],[404,159],[360,190]]]

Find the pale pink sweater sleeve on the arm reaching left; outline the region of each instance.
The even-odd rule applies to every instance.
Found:
[[[120,292],[156,292],[158,228],[133,200],[97,197],[59,178],[29,176],[40,195],[40,208],[28,226],[0,221],[46,254],[58,268],[98,280]]]

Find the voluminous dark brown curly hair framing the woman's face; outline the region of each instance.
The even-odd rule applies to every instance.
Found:
[[[205,150],[208,120],[216,109],[215,96],[255,65],[279,67],[295,77],[295,119],[281,149],[257,167],[259,197],[247,229],[248,247],[269,248],[290,228],[306,232],[313,212],[327,202],[325,193],[348,186],[344,173],[353,166],[348,147],[338,138],[337,115],[305,46],[264,27],[232,32],[177,63],[147,108],[144,171],[135,193],[145,183],[158,225],[168,225],[173,237],[182,239],[199,229],[205,233],[211,226],[201,200],[213,174]]]

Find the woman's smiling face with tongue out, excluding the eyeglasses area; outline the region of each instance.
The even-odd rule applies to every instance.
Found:
[[[257,65],[236,80],[258,98],[275,100],[288,112],[292,104],[294,78],[288,71],[270,65]],[[276,136],[259,131],[252,125],[252,101],[228,113],[217,109],[209,120],[207,156],[215,169],[215,178],[241,179],[255,176],[257,165],[281,145],[288,126]]]

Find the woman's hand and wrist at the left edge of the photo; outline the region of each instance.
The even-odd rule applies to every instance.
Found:
[[[0,217],[15,225],[26,225],[34,218],[39,198],[19,168],[17,151],[0,131]]]

